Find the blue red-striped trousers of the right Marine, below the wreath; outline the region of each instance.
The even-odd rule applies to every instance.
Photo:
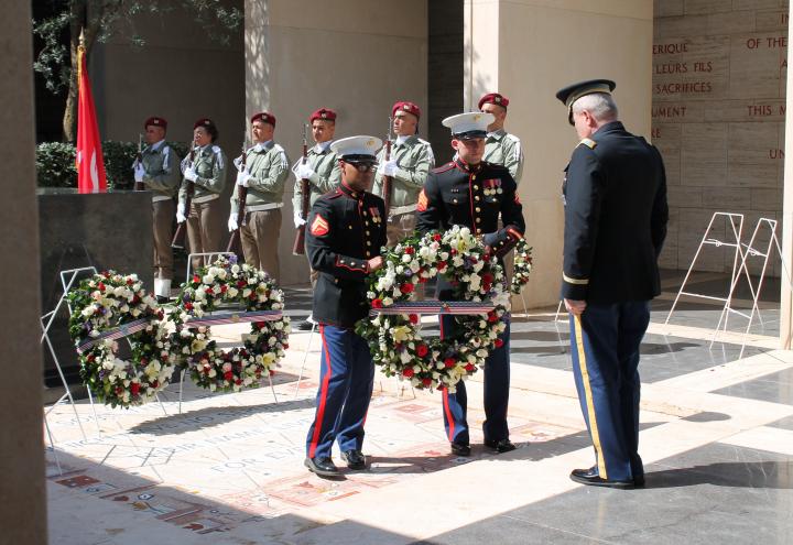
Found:
[[[507,425],[507,406],[509,405],[509,337],[510,319],[504,316],[507,329],[499,336],[503,341],[500,348],[496,348],[485,360],[485,422],[482,432],[485,440],[498,442],[509,439],[509,426]],[[453,335],[455,321],[454,316],[441,316],[441,338]],[[457,383],[457,391],[448,393],[443,391],[444,427],[446,437],[450,443],[468,445],[468,394],[465,382]]]

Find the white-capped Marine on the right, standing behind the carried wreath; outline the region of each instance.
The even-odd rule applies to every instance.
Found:
[[[452,116],[443,124],[452,130],[455,161],[432,171],[419,196],[419,231],[449,229],[455,225],[468,227],[502,260],[523,237],[523,208],[515,194],[517,184],[509,171],[481,160],[485,138],[492,115],[471,112]],[[501,218],[506,227],[499,229]],[[437,297],[448,301],[452,290],[438,280]],[[485,445],[506,453],[514,449],[509,440],[507,405],[509,403],[509,316],[507,329],[499,336],[496,348],[485,363]],[[453,316],[442,316],[442,336],[458,335]],[[443,390],[444,424],[452,444],[452,453],[469,456],[470,445],[466,421],[467,394],[465,382],[452,394]]]

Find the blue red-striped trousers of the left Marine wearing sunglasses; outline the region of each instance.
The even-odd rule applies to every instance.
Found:
[[[322,357],[314,422],[306,437],[308,458],[329,458],[339,449],[360,450],[374,364],[367,341],[351,329],[319,325]]]

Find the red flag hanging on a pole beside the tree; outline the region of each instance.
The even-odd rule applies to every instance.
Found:
[[[77,48],[77,190],[79,193],[107,192],[105,160],[101,153],[99,128],[96,121],[94,96],[85,62],[85,47]]]

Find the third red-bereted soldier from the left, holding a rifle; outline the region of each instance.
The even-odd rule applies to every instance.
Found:
[[[229,231],[239,227],[246,263],[267,272],[275,282],[280,277],[278,253],[281,233],[281,207],[284,183],[289,177],[289,157],[283,148],[273,141],[275,116],[262,111],[251,117],[253,146],[235,160],[237,185],[247,187],[245,221],[237,225],[239,194],[231,193]]]

